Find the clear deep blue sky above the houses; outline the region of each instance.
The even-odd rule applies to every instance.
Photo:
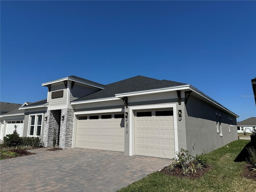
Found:
[[[256,1],[0,1],[0,100],[35,102],[75,75],[191,84],[256,116]]]

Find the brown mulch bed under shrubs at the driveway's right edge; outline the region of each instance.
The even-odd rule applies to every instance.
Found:
[[[172,171],[169,171],[168,170],[168,166],[162,168],[162,170],[160,170],[160,172],[166,174],[166,175],[170,175],[170,176],[176,176],[176,177],[179,177],[179,178],[189,178],[189,179],[193,179],[193,178],[200,178],[202,177],[202,175],[204,173],[206,173],[208,170],[210,170],[212,168],[211,165],[207,165],[205,168],[202,168],[202,171],[200,169],[197,169],[196,170],[196,174],[192,174],[190,173],[189,175],[184,175],[183,174],[183,171],[182,171],[182,168],[180,167],[174,167],[172,169]]]

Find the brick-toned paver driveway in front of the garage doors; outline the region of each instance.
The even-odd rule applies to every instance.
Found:
[[[36,154],[1,160],[1,192],[111,192],[170,163],[162,158],[82,148],[30,151]]]

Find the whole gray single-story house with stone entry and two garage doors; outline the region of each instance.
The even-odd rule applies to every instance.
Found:
[[[47,99],[20,110],[22,136],[40,135],[44,146],[55,130],[60,148],[175,158],[180,148],[200,154],[238,138],[238,115],[190,84],[136,76],[103,85],[68,76],[42,86]]]

